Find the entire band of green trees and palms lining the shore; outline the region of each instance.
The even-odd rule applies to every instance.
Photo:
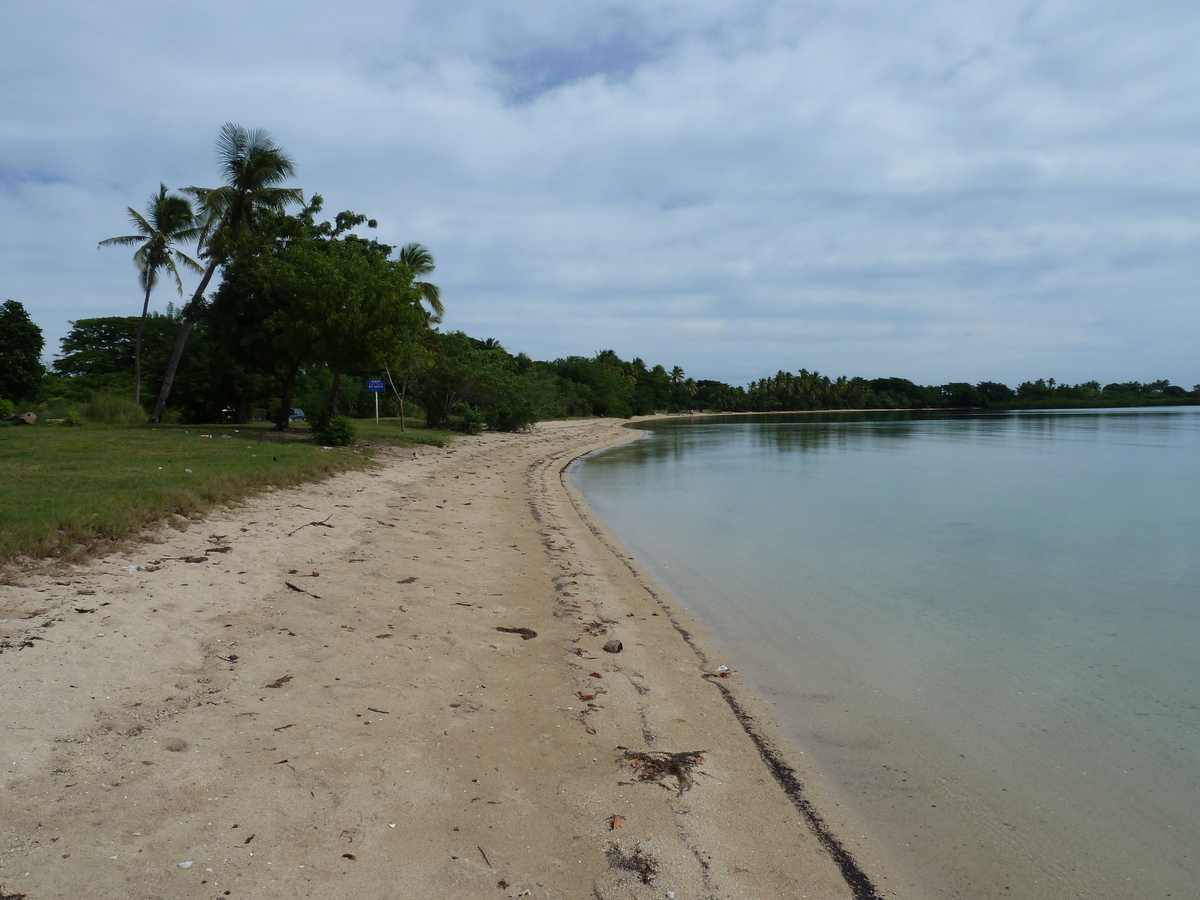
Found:
[[[373,413],[366,379],[385,379],[383,409],[401,427],[421,414],[430,427],[521,430],[568,415],[806,409],[1111,407],[1200,403],[1165,380],[1058,384],[994,382],[918,385],[904,378],[830,379],[802,368],[748,386],[685,377],[678,366],[593,356],[534,361],[492,340],[442,332],[433,257],[366,238],[365,215],[322,218],[323,199],[284,182],[290,158],[264,132],[226,125],[217,140],[217,187],[164,186],[145,212],[127,210],[133,234],[102,246],[134,247],[142,314],[77,319],[50,372],[41,330],[24,307],[0,307],[0,413],[13,404],[42,419],[76,422],[232,422],[269,419],[290,427],[301,408],[332,443],[353,439],[343,416]],[[298,212],[289,209],[299,206]],[[196,258],[180,245],[194,244]],[[202,277],[167,314],[149,312],[166,274]],[[220,271],[220,286],[206,293]],[[151,409],[143,397],[157,396]]]

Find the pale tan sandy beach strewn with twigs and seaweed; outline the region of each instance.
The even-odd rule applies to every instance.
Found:
[[[0,894],[875,895],[566,482],[619,425],[385,451],[0,587]]]

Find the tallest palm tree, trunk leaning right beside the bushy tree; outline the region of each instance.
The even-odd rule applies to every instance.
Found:
[[[184,325],[175,338],[167,372],[162,378],[158,402],[155,403],[150,421],[158,421],[170,396],[170,385],[179,370],[179,360],[184,355],[184,344],[196,325],[196,319],[203,313],[204,289],[221,263],[220,254],[214,252],[212,242],[218,238],[232,238],[242,230],[251,229],[254,214],[258,210],[282,212],[289,203],[304,203],[304,192],[296,187],[280,187],[282,181],[292,178],[295,164],[283,152],[271,136],[256,128],[247,131],[240,125],[226,122],[217,137],[217,163],[224,184],[221,187],[187,187],[200,205],[204,216],[204,232],[200,238],[202,256],[209,259],[204,277],[196,288],[191,301],[184,307]]]

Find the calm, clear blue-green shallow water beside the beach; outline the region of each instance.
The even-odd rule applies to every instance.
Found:
[[[1200,409],[649,427],[576,486],[881,888],[1200,896]]]

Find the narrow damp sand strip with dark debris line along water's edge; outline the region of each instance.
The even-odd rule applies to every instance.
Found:
[[[642,434],[642,432],[634,431],[632,428],[630,431],[632,431],[632,434],[629,440],[634,440]],[[722,700],[728,704],[730,710],[737,718],[746,737],[754,743],[760,757],[762,757],[763,764],[770,772],[780,790],[787,796],[792,805],[804,817],[804,821],[808,823],[808,827],[812,832],[814,836],[836,864],[838,870],[846,880],[846,884],[854,900],[880,900],[882,895],[876,890],[870,876],[862,869],[853,854],[838,839],[836,834],[834,834],[833,829],[829,828],[824,818],[821,816],[821,812],[808,798],[804,790],[804,782],[800,780],[799,775],[797,775],[796,769],[786,762],[785,755],[780,751],[778,742],[766,734],[758,724],[758,719],[748,710],[745,703],[739,701],[737,694],[727,684],[722,683],[719,676],[712,673],[709,654],[704,650],[703,641],[695,634],[695,626],[685,628],[680,622],[682,607],[678,601],[670,598],[670,594],[659,587],[654,578],[646,572],[644,569],[642,569],[642,566],[636,562],[636,558],[617,538],[616,533],[607,524],[605,524],[602,520],[595,515],[595,512],[592,511],[590,506],[588,506],[587,499],[571,482],[570,469],[576,463],[590,454],[598,452],[607,446],[616,446],[618,443],[624,442],[613,442],[601,448],[586,450],[569,460],[559,469],[563,490],[570,498],[576,514],[592,532],[595,539],[604,544],[613,557],[620,560],[620,563],[629,569],[630,574],[637,578],[642,588],[652,598],[654,598],[668,622],[671,622],[676,631],[679,634],[679,637],[683,638],[683,641],[696,654],[696,659],[700,661],[700,665],[706,670],[703,678],[716,688],[718,691],[720,691]],[[760,701],[754,702],[756,706],[761,704]]]

